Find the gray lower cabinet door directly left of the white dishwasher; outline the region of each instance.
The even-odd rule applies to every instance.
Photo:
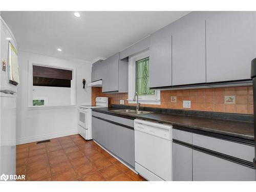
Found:
[[[125,162],[135,167],[134,130],[120,126],[118,131],[118,138],[118,156]]]

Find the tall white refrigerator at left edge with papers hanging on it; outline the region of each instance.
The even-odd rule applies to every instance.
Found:
[[[17,44],[1,19],[0,69],[0,175],[16,174],[16,92],[18,80]]]

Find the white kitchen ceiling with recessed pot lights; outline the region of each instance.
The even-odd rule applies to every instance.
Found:
[[[188,11],[1,11],[20,50],[91,61],[109,57],[186,15]],[[62,49],[61,52],[57,48]]]

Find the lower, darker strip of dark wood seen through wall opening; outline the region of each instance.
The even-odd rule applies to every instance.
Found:
[[[45,77],[33,77],[33,86],[70,88],[71,80]]]

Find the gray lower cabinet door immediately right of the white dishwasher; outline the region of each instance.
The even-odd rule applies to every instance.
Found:
[[[173,143],[173,180],[192,181],[192,148]]]

